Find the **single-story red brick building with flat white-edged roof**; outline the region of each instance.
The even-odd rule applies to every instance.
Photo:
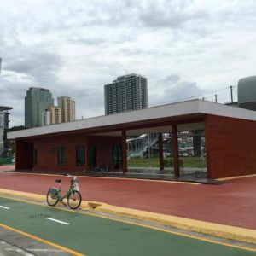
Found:
[[[172,132],[174,175],[179,175],[178,131],[203,130],[207,177],[256,173],[256,112],[192,100],[8,133],[15,139],[15,169],[89,172],[96,166],[127,172],[126,137]]]

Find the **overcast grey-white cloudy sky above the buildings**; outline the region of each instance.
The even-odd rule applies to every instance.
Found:
[[[204,96],[256,74],[255,0],[0,0],[0,105],[24,125],[31,86],[71,96],[77,119],[104,114],[103,85],[148,78],[148,102]],[[236,88],[234,90],[236,95]]]

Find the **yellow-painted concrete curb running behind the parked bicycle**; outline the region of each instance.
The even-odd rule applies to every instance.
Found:
[[[32,194],[9,189],[0,189],[0,195],[18,197],[40,202],[45,201],[45,195]],[[225,239],[256,244],[256,230],[249,230],[223,224],[213,224],[190,218],[180,218],[172,215],[145,212],[125,207],[114,207],[106,203],[96,201],[82,201],[80,208],[84,210],[90,209],[96,212],[110,213],[126,218],[136,218],[156,224],[176,227],[182,230],[189,230],[211,236],[222,237]]]

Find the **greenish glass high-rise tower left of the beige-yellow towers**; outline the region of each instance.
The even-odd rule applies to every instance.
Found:
[[[42,113],[54,106],[54,99],[48,89],[31,87],[25,97],[25,126],[42,126]]]

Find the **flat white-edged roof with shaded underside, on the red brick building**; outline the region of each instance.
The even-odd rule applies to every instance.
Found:
[[[195,124],[189,128],[190,130],[203,127],[204,117],[207,114],[256,121],[255,111],[230,107],[215,102],[192,100],[131,112],[82,119],[69,123],[12,131],[8,133],[8,138],[49,137],[81,132],[90,135],[120,136],[120,131],[122,130],[127,131],[127,136],[130,136],[147,133],[148,131],[150,133],[169,132],[172,131],[172,123],[179,124],[179,131],[188,131],[186,129],[188,129],[189,123]]]

